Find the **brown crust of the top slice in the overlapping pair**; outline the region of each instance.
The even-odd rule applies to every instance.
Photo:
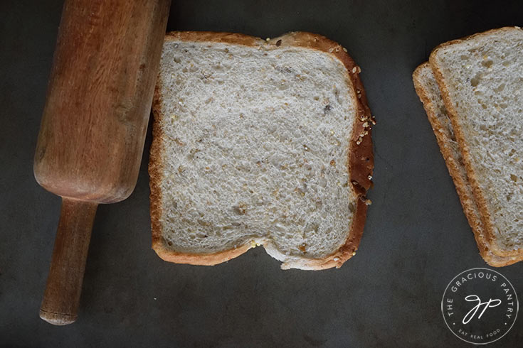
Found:
[[[485,31],[482,33],[476,33],[471,36],[465,36],[464,38],[460,38],[457,40],[450,40],[446,43],[441,43],[440,45],[436,46],[432,53],[430,53],[430,56],[428,58],[428,61],[430,63],[430,67],[433,70],[433,74],[435,76],[436,81],[438,82],[438,86],[440,87],[440,92],[443,97],[443,102],[445,104],[445,108],[447,109],[450,123],[453,126],[455,136],[458,140],[458,146],[460,147],[461,153],[463,155],[463,162],[465,164],[465,170],[467,171],[467,176],[470,181],[470,184],[472,185],[472,192],[474,194],[474,199],[477,204],[477,207],[480,211],[480,218],[485,230],[485,236],[487,236],[487,240],[490,244],[490,249],[492,250],[492,253],[497,256],[518,256],[519,254],[523,253],[523,249],[515,249],[515,250],[507,250],[502,249],[498,246],[495,234],[494,234],[494,222],[492,221],[492,217],[490,216],[490,212],[487,208],[487,200],[485,198],[484,192],[482,192],[480,183],[477,180],[477,175],[475,174],[474,168],[472,168],[472,157],[470,155],[470,150],[468,148],[468,144],[465,141],[465,134],[463,134],[463,129],[461,129],[459,118],[458,118],[458,110],[455,109],[454,103],[452,98],[450,97],[450,92],[448,89],[448,82],[445,79],[445,76],[443,75],[443,71],[440,69],[436,55],[438,55],[438,52],[442,50],[443,48],[446,48],[450,45],[455,45],[459,43],[463,43],[467,40],[472,40],[474,38],[481,38],[483,36],[490,36],[492,33],[497,33],[500,31],[517,31],[520,30],[519,28],[514,27],[504,27],[504,28],[498,28],[498,29],[492,29],[490,31]]]

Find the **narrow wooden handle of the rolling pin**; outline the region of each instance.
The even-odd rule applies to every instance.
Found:
[[[53,325],[68,325],[78,317],[96,202],[62,199],[53,258],[40,317]]]

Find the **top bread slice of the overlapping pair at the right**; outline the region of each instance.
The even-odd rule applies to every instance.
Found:
[[[494,254],[523,252],[523,31],[443,43],[429,62]]]

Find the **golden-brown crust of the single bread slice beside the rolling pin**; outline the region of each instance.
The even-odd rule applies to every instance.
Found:
[[[371,129],[376,121],[371,116],[367,103],[365,89],[359,78],[361,69],[356,65],[354,60],[349,56],[347,50],[338,43],[313,33],[291,32],[286,33],[272,40],[263,40],[253,36],[246,36],[237,33],[214,33],[183,31],[168,33],[165,41],[183,40],[189,42],[209,42],[209,43],[231,43],[235,45],[275,45],[276,47],[297,46],[320,50],[332,54],[340,60],[347,68],[347,74],[354,88],[354,99],[357,104],[357,114],[354,119],[352,137],[349,141],[349,168],[351,173],[350,181],[354,187],[357,200],[356,210],[352,226],[350,226],[347,241],[333,254],[322,259],[305,259],[302,258],[303,269],[322,270],[326,268],[339,268],[342,264],[350,259],[356,253],[363,234],[366,219],[366,192],[373,185],[371,177],[374,169],[374,154],[372,151]],[[161,77],[158,77],[157,85],[154,89],[153,100],[153,141],[149,157],[149,184],[151,189],[150,211],[152,226],[152,249],[157,252],[158,256],[165,261],[175,263],[189,263],[192,265],[213,266],[233,259],[248,251],[252,246],[250,242],[243,244],[234,249],[221,251],[214,254],[191,254],[172,251],[165,246],[162,238],[162,226],[159,218],[162,215],[162,192],[159,187],[162,178],[162,151],[163,151],[163,134],[160,120],[162,112],[160,109],[161,94],[159,86],[162,85]],[[365,134],[365,132],[367,132]],[[363,135],[363,136],[360,136]],[[349,170],[348,168],[348,170]]]

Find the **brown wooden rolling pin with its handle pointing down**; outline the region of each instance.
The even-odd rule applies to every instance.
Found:
[[[136,185],[171,0],[65,0],[34,158],[62,197],[40,317],[78,316],[97,205]]]

